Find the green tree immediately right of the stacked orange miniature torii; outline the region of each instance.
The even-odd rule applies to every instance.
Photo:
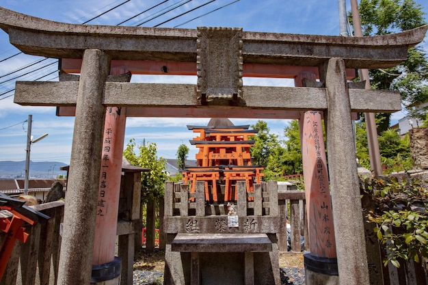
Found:
[[[256,142],[250,150],[251,156],[257,165],[266,165],[273,148],[276,148],[279,144],[278,136],[269,133],[271,130],[267,126],[267,122],[263,120],[258,120],[251,127],[258,131],[253,138]]]

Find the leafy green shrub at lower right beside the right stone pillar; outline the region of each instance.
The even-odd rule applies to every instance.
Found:
[[[400,260],[428,257],[428,191],[426,185],[410,175],[399,181],[366,179],[365,192],[373,198],[377,211],[367,219],[376,223],[374,228],[381,245],[388,249],[384,260],[400,267]],[[417,206],[417,208],[415,208]]]

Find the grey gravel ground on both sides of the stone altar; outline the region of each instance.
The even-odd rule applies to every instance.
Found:
[[[280,269],[281,284],[304,285],[305,271],[295,267]],[[150,270],[134,270],[134,285],[160,285],[163,284],[163,272]]]

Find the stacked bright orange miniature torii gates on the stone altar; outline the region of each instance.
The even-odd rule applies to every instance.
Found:
[[[208,126],[187,128],[199,133],[190,141],[199,149],[197,166],[183,169],[183,180],[190,182],[191,192],[196,191],[197,181],[204,181],[206,202],[218,204],[237,200],[237,181],[246,182],[247,192],[254,191],[253,184],[260,183],[264,168],[252,165],[251,160],[250,147],[255,141],[249,138],[257,131],[249,130],[249,125],[234,126],[228,119],[211,119]]]

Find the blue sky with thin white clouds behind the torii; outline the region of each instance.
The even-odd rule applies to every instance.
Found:
[[[125,0],[3,0],[0,6],[23,14],[46,18],[52,21],[64,23],[83,23],[90,18],[101,14],[110,8],[124,2]],[[425,6],[424,11],[428,13],[426,0],[417,0]],[[130,0],[120,8],[108,12],[100,18],[96,18],[88,24],[92,25],[117,25],[118,23],[131,18],[161,0]],[[209,3],[211,2],[211,3]],[[235,3],[233,3],[235,2]],[[161,11],[167,10],[170,5],[184,5],[168,12],[158,18]],[[338,36],[338,1],[337,0],[170,0],[165,1],[159,7],[142,14],[123,25],[138,25],[150,18],[152,21],[145,23],[144,27],[153,27],[174,18],[179,14],[196,8],[204,3],[202,8],[196,9],[189,14],[180,16],[173,21],[165,23],[160,27],[180,27],[196,29],[198,26],[207,27],[242,27],[244,31],[267,31],[275,33],[306,33]],[[232,3],[225,8],[219,9],[228,3]],[[172,7],[171,7],[172,8]],[[169,9],[168,9],[169,10]],[[351,10],[349,1],[347,10]],[[209,13],[211,12],[211,13]],[[205,16],[202,16],[206,14]],[[199,18],[198,18],[199,17]],[[196,20],[187,21],[196,18]],[[425,15],[427,18],[427,15]],[[427,42],[423,43],[425,51],[428,51]],[[18,50],[9,43],[8,35],[0,30],[0,61],[18,53]],[[57,81],[57,64],[54,59],[47,59],[31,68],[16,72],[9,76],[4,76],[40,60],[40,57],[31,55],[17,55],[0,62],[0,94],[8,92],[14,88],[15,79],[20,74],[29,72],[46,66],[36,72],[19,77],[20,81],[33,81],[39,77],[46,77],[40,81]],[[50,64],[50,65],[49,65]],[[55,78],[56,77],[56,78]],[[6,82],[4,82],[6,81]],[[165,77],[165,76],[139,76],[133,77],[133,82],[165,82],[165,83],[193,83],[196,84],[196,77]],[[282,85],[292,86],[293,82],[286,79],[260,79],[255,84],[252,79],[244,78],[244,85]],[[70,163],[70,150],[72,144],[72,130],[74,118],[55,116],[53,107],[29,107],[19,106],[13,103],[13,92],[8,92],[0,96],[0,161],[23,161],[25,160],[25,148],[27,143],[27,120],[32,114],[32,135],[39,137],[44,133],[49,136],[31,146],[31,161],[61,161]],[[393,120],[402,118],[403,112],[394,113]],[[174,159],[176,150],[180,144],[187,144],[189,149],[189,159],[193,159],[196,148],[189,144],[189,139],[195,135],[187,130],[186,125],[206,125],[209,119],[206,118],[127,118],[125,144],[129,139],[134,138],[137,142],[143,139],[157,144],[160,157]],[[255,124],[257,120],[234,119],[235,124]],[[271,133],[284,138],[284,126],[287,120],[265,120],[268,123]]]

